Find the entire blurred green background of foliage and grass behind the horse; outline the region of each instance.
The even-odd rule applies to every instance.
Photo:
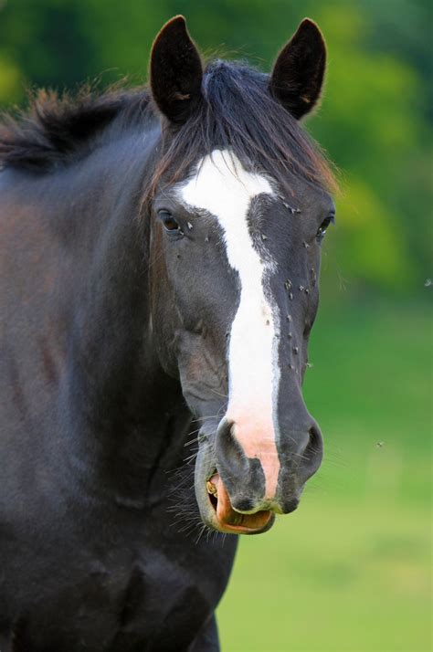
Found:
[[[432,3],[0,0],[0,105],[40,85],[146,79],[182,13],[206,57],[269,69],[299,21],[329,67],[306,128],[339,169],[305,396],[325,436],[301,508],[243,538],[219,609],[225,652],[431,646]]]

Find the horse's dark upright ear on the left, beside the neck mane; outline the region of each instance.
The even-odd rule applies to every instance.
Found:
[[[174,16],[155,38],[150,61],[153,100],[169,121],[183,124],[201,101],[203,66],[184,16]]]

